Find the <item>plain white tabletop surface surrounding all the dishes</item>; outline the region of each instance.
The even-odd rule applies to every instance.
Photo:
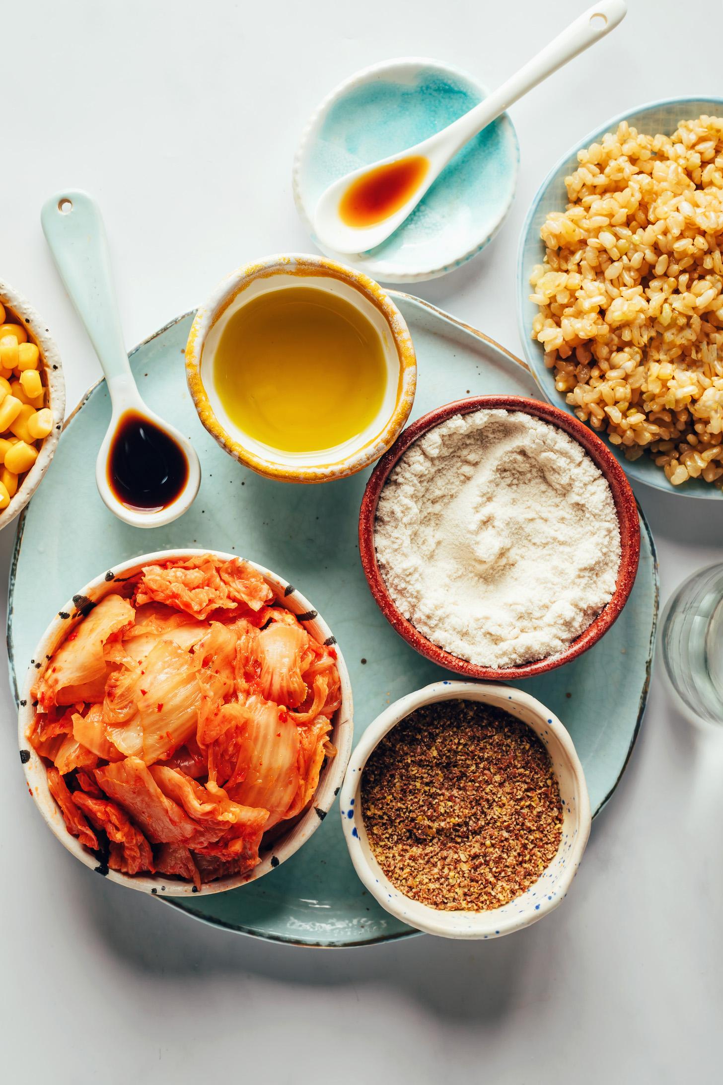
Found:
[[[50,193],[74,186],[99,200],[132,345],[237,265],[308,250],[291,196],[292,155],[307,115],[338,81],[376,61],[427,55],[494,87],[584,7],[3,4],[0,275],[54,334],[68,406],[98,365],[40,230]],[[719,0],[630,8],[610,37],[511,110],[521,174],[493,243],[466,268],[416,288],[518,354],[518,235],[548,168],[623,110],[723,92]],[[723,501],[645,487],[638,497],[664,602],[689,571],[723,557]],[[67,508],[71,515],[69,493]],[[0,539],[2,583],[12,541],[10,527]],[[624,686],[622,673],[610,679]],[[660,667],[630,767],[560,909],[492,943],[420,937],[351,950],[213,930],[83,868],[33,808],[4,675],[0,682],[8,1081],[721,1080],[723,732],[682,719]]]

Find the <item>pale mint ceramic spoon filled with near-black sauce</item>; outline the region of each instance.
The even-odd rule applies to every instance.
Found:
[[[100,209],[87,192],[67,190],[56,193],[43,204],[40,221],[61,279],[96,348],[111,396],[111,423],[96,461],[96,483],[100,496],[111,512],[135,527],[160,527],[168,524],[192,503],[201,484],[201,465],[191,443],[144,404],[136,385],[123,342]],[[180,446],[186,457],[186,482],[174,499],[163,508],[145,509],[126,505],[116,497],[110,485],[111,446],[119,425],[129,414],[141,416],[144,421],[163,430]],[[152,430],[147,432],[152,433]],[[158,457],[154,457],[156,476],[163,477],[164,463],[162,459],[158,464]]]

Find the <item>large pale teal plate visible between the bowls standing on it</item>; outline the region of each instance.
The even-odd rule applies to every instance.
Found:
[[[419,362],[413,418],[468,393],[534,394],[527,368],[491,340],[416,298],[402,294],[395,301]],[[93,463],[111,408],[105,384],[96,385],[68,420],[48,476],[18,525],[8,608],[12,680],[24,675],[59,600],[98,572],[166,547],[236,549],[295,584],[328,620],[350,669],[360,733],[391,701],[444,676],[397,637],[364,578],[357,516],[368,472],[297,486],[255,475],[221,451],[199,422],[186,387],[182,354],[192,316],[141,344],[130,361],[149,405],[192,439],[203,476],[199,496],[180,520],[151,531],[123,524],[109,512],[96,489]],[[594,810],[614,790],[637,733],[657,585],[645,529],[635,587],[608,635],[574,663],[520,682],[569,728]],[[365,893],[335,809],[272,873],[173,906],[233,931],[304,945],[363,945],[413,933]]]

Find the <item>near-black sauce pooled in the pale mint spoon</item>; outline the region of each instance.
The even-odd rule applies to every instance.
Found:
[[[128,509],[160,512],[188,482],[188,460],[180,445],[137,411],[122,417],[107,457],[107,482]]]

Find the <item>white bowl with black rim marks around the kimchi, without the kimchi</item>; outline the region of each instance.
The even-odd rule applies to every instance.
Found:
[[[272,845],[267,845],[262,841],[259,848],[261,863],[245,875],[237,875],[232,878],[208,882],[200,890],[195,890],[190,882],[175,881],[167,875],[135,875],[130,877],[120,873],[118,870],[106,870],[104,867],[101,867],[98,856],[84,847],[75,837],[71,835],[65,828],[63,815],[55,804],[53,796],[50,794],[46,766],[25,737],[27,728],[33,722],[35,711],[30,698],[30,687],[37,677],[42,674],[48,663],[48,656],[52,655],[55,648],[79,623],[83,617],[83,609],[88,603],[98,602],[103,596],[107,595],[115,579],[132,576],[143,565],[152,562],[190,558],[202,553],[214,553],[227,560],[239,557],[239,554],[223,553],[217,550],[208,550],[207,548],[202,550],[160,550],[156,553],[142,554],[132,561],[123,562],[119,565],[115,565],[109,572],[97,576],[96,579],[87,584],[85,588],[81,588],[78,595],[74,596],[59,611],[55,618],[48,626],[36,649],[35,659],[30,661],[28,674],[21,693],[18,714],[21,761],[23,762],[30,794],[52,832],[65,845],[68,852],[75,855],[77,859],[80,859],[85,866],[90,867],[91,870],[104,873],[111,881],[118,882],[120,885],[128,885],[130,889],[141,890],[144,893],[153,893],[154,895],[157,894],[158,896],[189,896],[191,893],[201,893],[208,896],[212,893],[223,893],[226,890],[236,889],[239,885],[244,885],[250,881],[262,878],[269,870],[283,863],[284,859],[288,859],[294,852],[297,852],[302,844],[305,844],[315,830],[318,829],[334,801],[334,796],[344,777],[354,733],[352,686],[344,658],[339,647],[337,647],[342,703],[334,714],[332,720],[333,729],[329,736],[337,748],[337,756],[327,760],[322,767],[319,784],[306,812],[300,818],[293,820],[286,832],[275,837]],[[302,625],[313,637],[316,637],[321,642],[329,641],[331,638],[331,642],[335,643],[335,639],[327,623],[296,588],[292,587],[280,576],[277,576],[276,573],[264,569],[263,565],[257,565],[255,562],[249,563],[262,574],[274,591],[275,597],[281,600],[288,610],[296,614],[300,618],[302,615],[308,615],[305,621],[302,621]]]

